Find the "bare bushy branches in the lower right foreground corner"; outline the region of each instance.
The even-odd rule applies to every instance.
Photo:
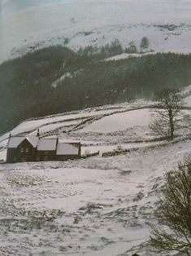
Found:
[[[191,159],[166,174],[162,198],[155,212],[150,245],[156,252],[178,251],[191,255]]]

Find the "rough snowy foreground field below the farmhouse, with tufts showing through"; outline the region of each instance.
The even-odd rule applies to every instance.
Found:
[[[154,255],[141,244],[158,188],[190,153],[189,140],[120,157],[1,165],[1,255]]]

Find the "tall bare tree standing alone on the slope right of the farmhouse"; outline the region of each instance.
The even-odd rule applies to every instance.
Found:
[[[178,90],[165,89],[160,91],[156,99],[156,113],[158,117],[150,124],[150,129],[157,135],[167,139],[174,139],[176,117],[182,106],[181,95]]]

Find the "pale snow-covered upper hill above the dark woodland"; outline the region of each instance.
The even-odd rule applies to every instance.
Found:
[[[188,0],[44,1],[19,10],[0,24],[1,62],[45,46],[76,49],[115,39],[139,51],[144,37],[150,42],[147,51],[191,51]]]

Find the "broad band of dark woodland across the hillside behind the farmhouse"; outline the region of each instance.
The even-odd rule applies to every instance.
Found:
[[[156,90],[191,83],[191,55],[103,61],[122,52],[117,40],[100,51],[50,46],[1,64],[0,134],[30,117],[149,99]]]

